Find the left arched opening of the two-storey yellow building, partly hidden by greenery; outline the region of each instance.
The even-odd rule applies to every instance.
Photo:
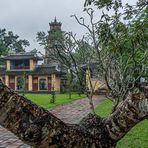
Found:
[[[25,79],[23,77],[16,78],[16,90],[24,90],[25,88]]]

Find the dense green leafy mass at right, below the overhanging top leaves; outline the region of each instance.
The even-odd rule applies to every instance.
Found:
[[[105,72],[109,88],[116,96],[125,98],[128,90],[132,90],[135,82],[145,73],[148,64],[146,24],[145,20],[139,18],[128,24],[120,20],[106,22],[98,26],[100,47],[108,56],[102,55],[109,61],[103,68],[107,69]],[[130,84],[133,85],[128,87]]]

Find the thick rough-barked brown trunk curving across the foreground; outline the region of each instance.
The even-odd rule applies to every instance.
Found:
[[[130,128],[147,117],[147,105],[143,95],[135,94],[107,118],[90,114],[79,125],[69,125],[0,82],[0,124],[38,148],[115,147]]]

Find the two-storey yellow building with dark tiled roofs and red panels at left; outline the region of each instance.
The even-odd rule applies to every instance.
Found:
[[[0,79],[17,91],[60,92],[62,72],[58,65],[38,65],[42,58],[34,52],[10,54],[4,57],[6,65],[0,67]]]

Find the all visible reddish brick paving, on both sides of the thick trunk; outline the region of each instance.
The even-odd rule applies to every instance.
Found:
[[[103,99],[103,96],[94,96],[94,106]],[[72,103],[49,109],[49,111],[66,123],[79,123],[79,121],[90,112],[89,101],[86,98],[76,100]],[[0,148],[30,148],[30,146],[23,144],[23,142],[11,132],[0,126]]]

